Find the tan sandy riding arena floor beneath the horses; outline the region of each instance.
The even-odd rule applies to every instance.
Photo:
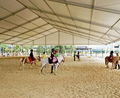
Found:
[[[38,63],[39,64],[39,63]],[[102,59],[67,58],[57,75],[39,67],[19,70],[19,59],[0,59],[0,98],[120,98],[120,71]]]

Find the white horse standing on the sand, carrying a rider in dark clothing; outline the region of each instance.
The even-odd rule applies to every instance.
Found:
[[[59,65],[60,65],[62,62],[65,61],[65,58],[64,58],[64,56],[60,55],[60,56],[58,56],[57,60],[58,60],[57,63],[52,63],[52,64],[50,64],[48,57],[45,58],[45,59],[41,59],[41,65],[42,65],[42,66],[41,66],[41,73],[42,73],[43,69],[45,68],[45,66],[48,65],[48,64],[51,65],[51,73],[52,73],[53,71],[54,71],[54,73],[55,73],[55,71],[57,71],[57,68],[59,67]]]

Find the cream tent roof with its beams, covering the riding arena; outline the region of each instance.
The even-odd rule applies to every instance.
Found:
[[[0,43],[109,44],[119,26],[119,0],[0,0]]]

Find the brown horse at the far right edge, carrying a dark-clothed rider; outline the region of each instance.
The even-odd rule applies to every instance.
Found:
[[[120,60],[119,56],[113,56],[111,59],[109,56],[106,56],[105,57],[105,65],[108,68],[109,67],[108,64],[112,63],[112,68],[115,68],[116,65],[118,65],[118,63],[119,63],[119,60]]]

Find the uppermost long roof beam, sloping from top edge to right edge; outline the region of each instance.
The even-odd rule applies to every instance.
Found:
[[[78,3],[78,2],[76,3],[76,2],[64,1],[64,0],[49,0],[49,1],[92,9],[92,5],[89,5],[89,4],[82,4],[82,3]],[[98,6],[95,6],[94,9],[98,10],[98,11],[113,13],[113,14],[120,14],[120,10],[115,10],[115,9],[102,8],[102,7],[98,7]]]

